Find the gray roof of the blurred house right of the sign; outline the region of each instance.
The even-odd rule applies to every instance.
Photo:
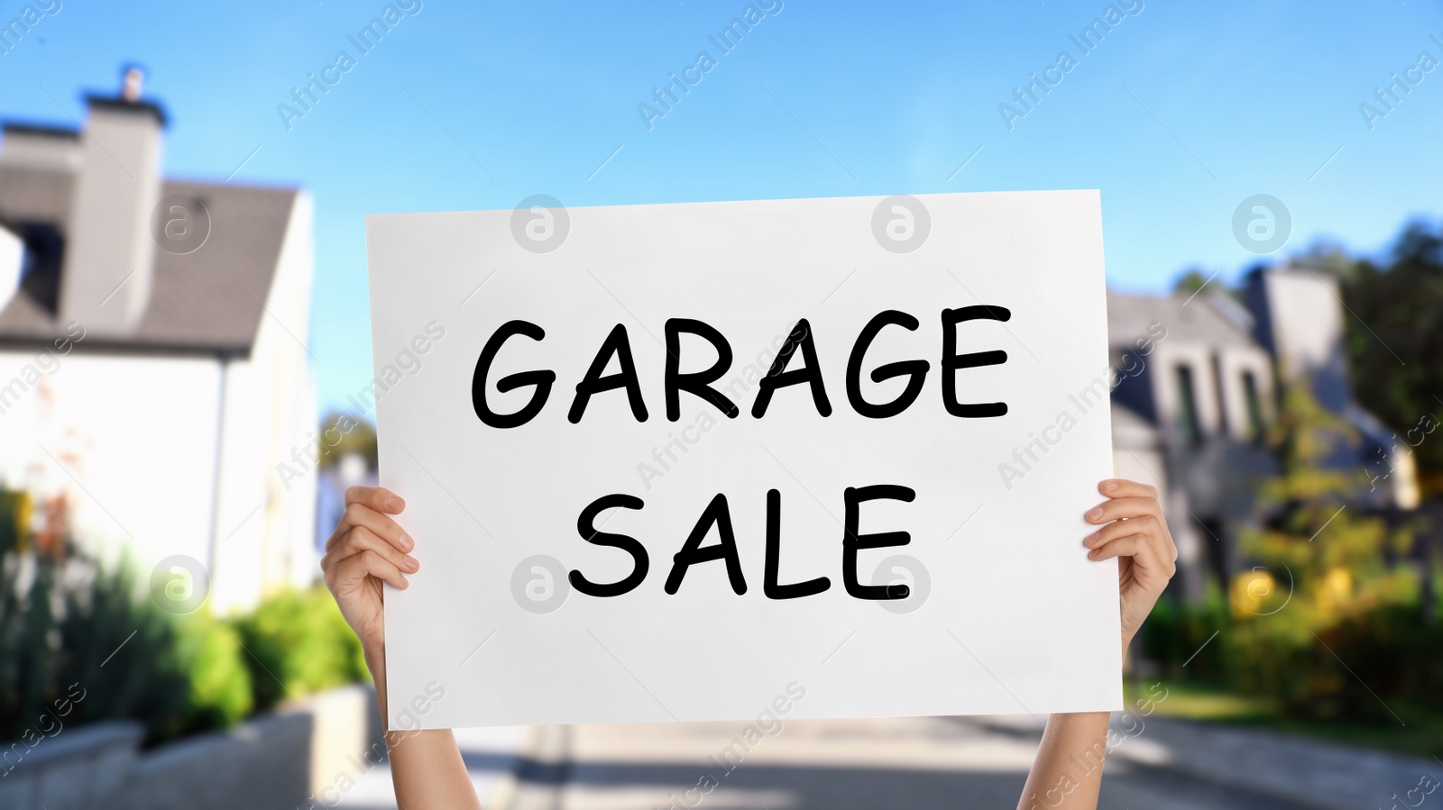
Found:
[[[1137,295],[1107,291],[1107,339],[1114,347],[1149,337],[1153,324],[1162,323],[1169,343],[1205,343],[1208,346],[1255,346],[1253,336],[1240,327],[1237,313],[1225,317],[1208,293],[1188,295]]]

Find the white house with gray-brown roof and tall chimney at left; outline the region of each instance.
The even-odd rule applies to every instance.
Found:
[[[131,69],[82,128],[0,140],[0,489],[36,536],[146,577],[186,555],[212,608],[316,569],[306,346],[312,203],[160,176],[165,111]]]

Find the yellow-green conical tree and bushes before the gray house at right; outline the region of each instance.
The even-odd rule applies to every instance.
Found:
[[[1247,568],[1222,610],[1159,602],[1144,626],[1150,656],[1183,675],[1189,647],[1221,630],[1186,675],[1289,716],[1391,724],[1392,702],[1443,709],[1443,621],[1423,598],[1437,572],[1408,564],[1410,530],[1356,507],[1348,476],[1328,463],[1349,440],[1306,392],[1287,393],[1274,435],[1281,474],[1242,533]]]

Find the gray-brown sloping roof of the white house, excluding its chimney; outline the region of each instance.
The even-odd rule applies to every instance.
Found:
[[[48,222],[63,236],[74,176],[0,170],[0,219]],[[166,353],[250,353],[270,294],[296,189],[166,180],[160,196],[186,195],[211,213],[205,245],[186,255],[156,249],[150,304],[136,331],[87,336],[87,347]],[[43,297],[42,297],[43,298]],[[0,311],[0,343],[45,343],[62,324],[20,290]]]

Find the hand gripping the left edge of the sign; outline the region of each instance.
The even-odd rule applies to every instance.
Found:
[[[407,553],[416,548],[416,540],[388,517],[403,509],[405,502],[390,490],[348,489],[346,510],[326,540],[326,556],[320,558],[326,588],[336,598],[341,615],[361,638],[368,660],[385,647],[381,584],[405,588],[405,574],[416,574],[421,566]]]

